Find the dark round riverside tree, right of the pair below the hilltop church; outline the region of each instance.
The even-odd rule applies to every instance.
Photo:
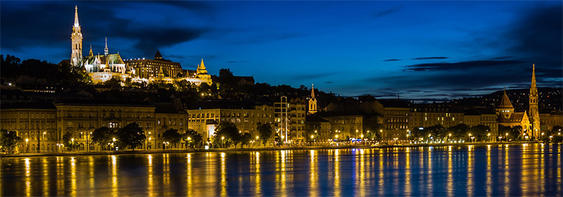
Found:
[[[144,144],[146,139],[145,132],[137,122],[132,122],[118,130],[118,143],[122,146],[132,148],[133,151],[138,146]]]

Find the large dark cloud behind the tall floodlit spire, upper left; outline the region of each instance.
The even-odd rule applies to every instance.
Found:
[[[129,52],[125,56],[153,56],[156,49],[173,46],[201,37],[208,28],[187,27],[186,25],[139,24],[133,18],[118,16],[115,8],[132,4],[167,4],[190,11],[210,11],[211,8],[198,2],[168,1],[97,1],[96,4],[68,1],[2,2],[1,43],[5,49],[18,51],[23,47],[49,47],[65,49],[70,46],[70,33],[74,22],[74,6],[84,35],[84,52],[92,44],[94,51],[103,49],[104,38],[108,37],[110,52]],[[82,6],[84,5],[84,6]],[[87,6],[86,6],[87,5]],[[37,13],[39,11],[39,13]],[[41,17],[37,17],[41,15]],[[118,46],[127,43],[127,49]],[[96,53],[96,52],[94,52]],[[122,53],[123,54],[123,53]]]

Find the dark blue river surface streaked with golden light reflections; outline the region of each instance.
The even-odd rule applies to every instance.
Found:
[[[561,146],[514,144],[0,160],[0,196],[562,196]]]

